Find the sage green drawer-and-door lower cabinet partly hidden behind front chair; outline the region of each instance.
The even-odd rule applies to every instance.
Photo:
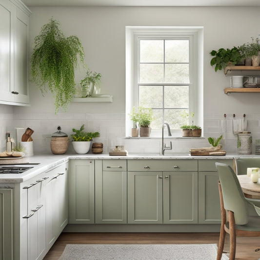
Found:
[[[229,164],[233,160],[199,160],[199,223],[221,223],[219,174],[216,162]]]

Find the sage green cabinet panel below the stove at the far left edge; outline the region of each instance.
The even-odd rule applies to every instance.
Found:
[[[0,260],[12,260],[13,250],[13,190],[0,190]]]

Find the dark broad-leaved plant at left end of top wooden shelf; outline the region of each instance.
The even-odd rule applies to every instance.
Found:
[[[224,49],[220,48],[218,51],[211,51],[211,56],[215,56],[210,60],[210,65],[215,65],[215,71],[222,70],[227,65],[235,65],[236,63],[241,61],[240,51],[237,47],[233,47],[232,49]]]

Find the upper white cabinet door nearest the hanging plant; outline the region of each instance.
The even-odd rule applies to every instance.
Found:
[[[14,101],[29,103],[28,31],[29,17],[17,8],[14,34]],[[18,94],[17,94],[18,93]]]

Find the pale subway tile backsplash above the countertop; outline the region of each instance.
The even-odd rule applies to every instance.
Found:
[[[235,115],[236,119],[243,119],[243,115]],[[208,137],[223,135],[220,142],[227,153],[237,153],[237,135],[233,133],[233,114],[204,114],[204,138],[166,138],[165,142],[172,141],[173,150],[165,151],[165,154],[188,153],[189,148],[209,146]],[[247,130],[251,131],[253,138],[253,153],[255,141],[260,139],[260,114],[249,114]],[[0,105],[0,148],[5,150],[5,132],[10,131],[11,136],[16,138],[15,128],[30,127],[35,130],[34,152],[51,153],[51,135],[61,126],[61,131],[68,136],[72,134],[72,128],[79,129],[85,124],[86,131],[100,132],[100,137],[95,142],[103,143],[103,153],[108,153],[116,145],[125,145],[129,153],[158,154],[161,151],[161,138],[125,138],[125,114],[88,114],[88,113],[13,113],[13,107]],[[67,153],[75,153],[72,144],[69,144]]]

